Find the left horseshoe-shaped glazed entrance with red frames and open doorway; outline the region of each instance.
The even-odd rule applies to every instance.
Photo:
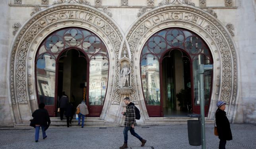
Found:
[[[97,35],[81,28],[55,31],[39,46],[35,63],[38,102],[45,103],[50,116],[56,116],[59,94],[65,91],[76,104],[86,101],[89,116],[99,117],[107,90],[109,56]]]

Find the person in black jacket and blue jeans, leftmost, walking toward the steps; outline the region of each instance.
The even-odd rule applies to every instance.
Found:
[[[50,117],[48,111],[44,109],[45,103],[39,104],[39,109],[33,112],[33,123],[35,124],[35,142],[38,142],[39,139],[39,130],[40,126],[42,128],[43,139],[47,138],[45,133],[46,126],[50,125]],[[48,123],[48,124],[47,124]]]

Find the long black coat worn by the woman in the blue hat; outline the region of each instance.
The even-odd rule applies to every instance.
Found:
[[[226,117],[226,112],[221,109],[217,109],[215,113],[217,131],[219,139],[221,140],[232,140],[232,133],[230,129],[229,120]]]

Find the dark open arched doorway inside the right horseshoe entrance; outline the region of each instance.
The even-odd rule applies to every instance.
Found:
[[[184,117],[192,112],[191,69],[188,55],[170,50],[162,59],[162,99],[164,117]]]

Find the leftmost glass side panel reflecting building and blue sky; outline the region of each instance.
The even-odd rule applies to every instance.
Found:
[[[50,59],[50,55],[37,61],[37,88],[40,103],[54,105],[55,59]]]

